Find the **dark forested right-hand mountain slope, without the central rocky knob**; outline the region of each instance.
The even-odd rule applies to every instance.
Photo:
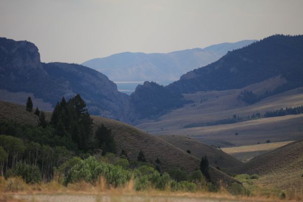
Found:
[[[220,60],[181,76],[168,86],[174,92],[226,90],[282,74],[291,86],[302,85],[303,35],[274,35],[229,52]]]

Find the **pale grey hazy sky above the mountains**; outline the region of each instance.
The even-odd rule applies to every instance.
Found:
[[[0,0],[0,36],[35,43],[43,62],[82,63],[303,34],[302,8],[302,0]]]

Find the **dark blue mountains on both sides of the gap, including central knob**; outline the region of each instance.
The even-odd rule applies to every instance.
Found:
[[[213,51],[218,48],[208,47]],[[79,93],[91,114],[136,123],[157,119],[192,102],[184,98],[184,93],[242,88],[275,76],[285,79],[285,83],[265,95],[303,86],[302,55],[303,35],[273,35],[228,52],[168,86],[146,81],[128,96],[96,70],[77,64],[41,63],[33,43],[0,38],[0,89],[33,93],[52,106],[62,96],[70,98]]]

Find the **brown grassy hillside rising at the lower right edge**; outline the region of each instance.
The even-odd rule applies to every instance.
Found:
[[[303,140],[260,155],[248,163],[233,168],[232,173],[258,173],[258,183],[266,187],[278,187],[303,193]]]

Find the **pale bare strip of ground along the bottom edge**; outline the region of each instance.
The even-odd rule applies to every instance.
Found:
[[[191,194],[191,193],[110,193],[110,194],[84,194],[84,193],[57,193],[57,194],[9,194],[6,200],[2,202],[22,202],[22,201],[35,201],[35,202],[278,202],[284,201],[272,198],[248,198],[248,197],[235,197],[226,194]]]

